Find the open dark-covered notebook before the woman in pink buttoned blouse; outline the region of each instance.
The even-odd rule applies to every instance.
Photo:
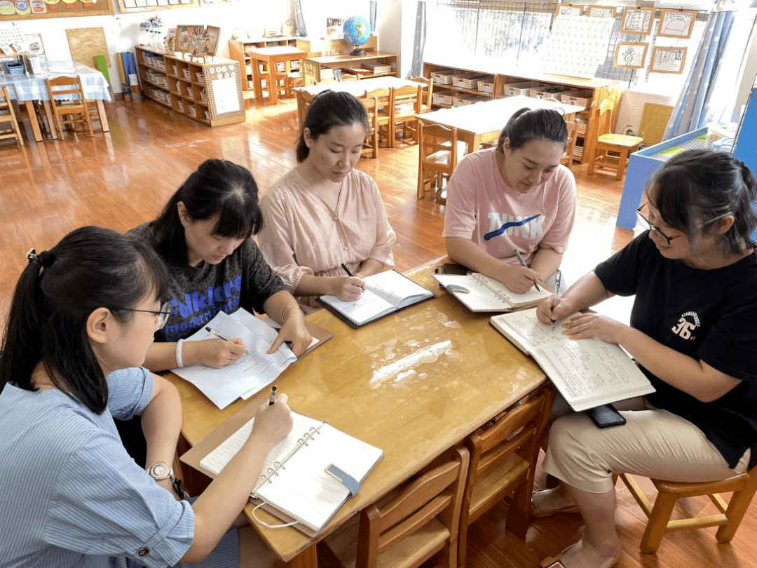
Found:
[[[355,301],[343,301],[333,295],[323,295],[318,301],[352,327],[378,320],[403,307],[434,298],[434,292],[416,284],[396,270],[387,270],[363,279],[366,290]]]

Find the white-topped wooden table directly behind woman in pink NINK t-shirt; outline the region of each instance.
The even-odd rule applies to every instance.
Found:
[[[468,142],[468,153],[478,150],[481,144],[496,140],[507,121],[519,109],[550,108],[562,111],[570,120],[572,114],[584,111],[584,107],[565,105],[544,98],[516,96],[496,98],[493,101],[477,102],[462,107],[442,108],[423,114],[416,114],[424,123],[436,123],[448,128],[456,128],[459,140]]]

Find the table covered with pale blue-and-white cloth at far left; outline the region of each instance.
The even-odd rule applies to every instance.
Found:
[[[107,81],[100,71],[87,67],[73,61],[72,64],[48,64],[45,73],[39,73],[37,75],[5,75],[5,80],[0,80],[0,86],[8,87],[8,95],[11,99],[14,99],[20,103],[26,105],[26,112],[29,114],[29,121],[32,125],[34,133],[34,139],[37,142],[42,142],[42,131],[39,129],[39,123],[37,122],[36,113],[34,111],[34,102],[42,101],[42,105],[45,107],[45,116],[47,117],[48,124],[51,125],[50,132],[53,138],[58,138],[58,130],[53,126],[55,120],[52,117],[52,111],[50,108],[50,96],[47,92],[46,79],[54,79],[58,76],[73,76],[78,75],[82,79],[82,86],[84,89],[84,96],[89,101],[97,101],[98,113],[100,114],[100,121],[102,124],[103,132],[108,132],[110,127],[107,124],[107,118],[105,117],[105,108],[103,101],[110,102],[111,92],[108,90]]]

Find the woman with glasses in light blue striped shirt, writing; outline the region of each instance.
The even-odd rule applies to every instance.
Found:
[[[0,355],[2,566],[272,565],[249,527],[229,527],[291,429],[286,396],[258,410],[248,441],[200,497],[180,500],[169,465],[179,395],[141,367],[165,320],[160,258],[92,226],[27,258]],[[114,426],[139,414],[148,471]]]

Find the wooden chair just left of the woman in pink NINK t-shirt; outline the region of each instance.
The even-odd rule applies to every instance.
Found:
[[[449,180],[462,153],[457,141],[457,129],[441,124],[418,121],[418,198],[422,199],[426,186],[441,201],[444,181]]]

